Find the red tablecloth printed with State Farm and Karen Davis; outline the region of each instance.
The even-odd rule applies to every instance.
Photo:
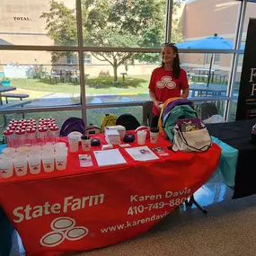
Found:
[[[170,143],[160,138],[156,146],[168,151]],[[221,152],[214,144],[141,163],[119,150],[128,164],[98,167],[92,154],[94,167],[80,168],[79,152],[68,155],[65,171],[0,180],[0,204],[27,255],[85,251],[145,233],[207,181]]]

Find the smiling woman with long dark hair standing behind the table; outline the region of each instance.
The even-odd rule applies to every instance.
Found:
[[[173,97],[188,98],[190,89],[187,73],[180,66],[178,48],[165,44],[162,50],[162,65],[154,69],[148,85],[149,96],[153,101],[151,127],[158,127],[159,105]],[[182,93],[181,93],[182,91]]]

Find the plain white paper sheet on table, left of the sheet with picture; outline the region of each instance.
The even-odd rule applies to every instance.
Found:
[[[118,148],[103,151],[94,151],[93,153],[99,166],[127,163],[122,154],[119,152]]]

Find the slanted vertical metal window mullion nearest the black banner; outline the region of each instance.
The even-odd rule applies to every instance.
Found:
[[[237,74],[237,67],[238,67],[239,54],[240,54],[238,50],[240,49],[242,37],[243,37],[243,24],[244,24],[244,19],[246,14],[246,7],[247,7],[247,1],[243,1],[242,4],[240,5],[240,11],[238,13],[237,26],[236,26],[235,39],[234,39],[234,48],[237,51],[234,52],[234,56],[232,59],[232,71],[231,71],[231,76],[229,79],[229,86],[228,86],[228,96],[230,97],[233,97],[233,94],[234,94],[234,85],[236,82],[236,74]],[[230,117],[231,104],[232,104],[232,101],[226,102],[225,104],[225,115],[224,115],[225,120],[228,120]]]

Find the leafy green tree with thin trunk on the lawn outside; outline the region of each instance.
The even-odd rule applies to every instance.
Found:
[[[165,0],[83,0],[84,45],[101,47],[156,48],[164,39]],[[50,1],[50,10],[42,13],[46,29],[57,45],[77,44],[75,10]],[[91,52],[93,57],[113,67],[114,81],[118,68],[135,59],[154,62],[158,54],[132,52]],[[66,55],[55,52],[53,59]]]

